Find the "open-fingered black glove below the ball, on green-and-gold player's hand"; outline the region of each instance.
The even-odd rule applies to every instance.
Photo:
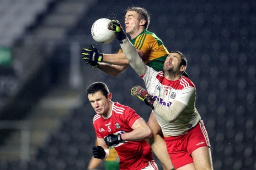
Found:
[[[98,62],[102,61],[103,54],[99,53],[98,49],[91,45],[91,48],[83,48],[81,51],[83,55],[83,60],[86,61],[86,64],[91,64],[92,68],[99,66]]]

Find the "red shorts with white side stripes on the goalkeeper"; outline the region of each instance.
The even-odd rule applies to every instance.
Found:
[[[208,134],[202,120],[194,128],[190,129],[186,135],[164,137],[164,139],[175,169],[193,163],[191,153],[197,148],[202,146],[210,147]]]

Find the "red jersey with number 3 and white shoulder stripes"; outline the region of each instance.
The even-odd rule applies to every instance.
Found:
[[[132,108],[113,102],[111,113],[108,117],[95,115],[93,126],[96,136],[104,138],[109,134],[131,132],[132,124],[137,119],[142,119]],[[120,158],[120,170],[141,170],[154,161],[151,148],[145,141],[126,141],[114,145]]]

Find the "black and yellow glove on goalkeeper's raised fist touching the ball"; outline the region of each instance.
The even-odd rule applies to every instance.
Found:
[[[115,32],[115,37],[119,40],[119,43],[122,44],[122,40],[124,40],[127,36],[122,29],[122,26],[118,20],[112,20],[108,23],[108,29]]]

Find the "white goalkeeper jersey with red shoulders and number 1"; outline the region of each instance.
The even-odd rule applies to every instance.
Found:
[[[157,113],[156,119],[163,133],[170,136],[184,135],[197,125],[201,119],[195,108],[196,90],[193,82],[182,76],[179,80],[167,80],[163,71],[155,71],[147,66],[145,75],[141,78],[145,81],[147,91],[153,95],[162,105],[171,106],[174,100],[187,106],[186,110],[171,123],[166,122]]]

